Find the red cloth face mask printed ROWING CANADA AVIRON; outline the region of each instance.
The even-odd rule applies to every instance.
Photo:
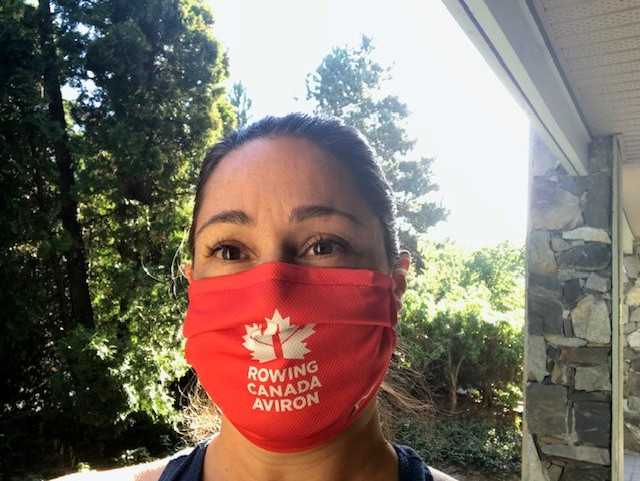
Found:
[[[340,434],[375,397],[395,325],[389,276],[274,262],[192,282],[185,351],[249,441],[303,451]]]

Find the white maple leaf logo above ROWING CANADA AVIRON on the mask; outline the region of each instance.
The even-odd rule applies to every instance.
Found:
[[[284,319],[276,309],[271,316],[264,318],[267,327],[264,331],[258,324],[245,325],[247,333],[242,336],[246,347],[252,354],[252,359],[260,362],[272,361],[277,358],[304,359],[311,352],[307,349],[305,339],[313,334],[315,324],[292,326],[289,318]]]

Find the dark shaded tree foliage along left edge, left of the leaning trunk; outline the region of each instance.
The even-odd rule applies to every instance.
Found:
[[[34,432],[30,415],[48,397],[53,344],[72,322],[62,258],[69,240],[51,154],[59,126],[41,93],[38,20],[21,0],[0,7],[0,473],[16,464]],[[29,448],[45,454],[48,444],[36,439]]]

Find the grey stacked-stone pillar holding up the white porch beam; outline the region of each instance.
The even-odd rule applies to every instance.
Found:
[[[596,139],[589,175],[570,176],[532,135],[525,416],[536,480],[611,478],[612,149]]]

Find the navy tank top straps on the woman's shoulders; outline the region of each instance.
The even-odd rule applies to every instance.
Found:
[[[158,481],[200,481],[207,444],[200,443],[190,453],[171,459]],[[433,481],[431,471],[418,453],[408,446],[394,444],[393,447],[398,454],[399,481]]]

